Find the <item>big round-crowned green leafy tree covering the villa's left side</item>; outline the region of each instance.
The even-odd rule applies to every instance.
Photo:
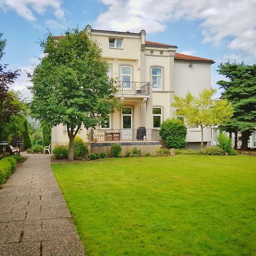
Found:
[[[73,160],[79,129],[94,127],[114,112],[116,90],[101,48],[85,31],[67,30],[58,39],[49,34],[41,46],[46,56],[31,76],[31,109],[51,126],[67,125],[69,160]]]

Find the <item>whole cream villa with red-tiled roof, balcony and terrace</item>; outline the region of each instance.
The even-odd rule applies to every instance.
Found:
[[[123,150],[135,145],[142,151],[155,151],[160,145],[161,122],[174,115],[175,109],[171,108],[174,94],[185,96],[189,90],[197,96],[210,88],[210,65],[214,61],[177,53],[177,46],[149,42],[144,30],[139,33],[93,30],[87,25],[85,31],[91,40],[100,43],[109,62],[109,77],[121,81],[115,97],[123,106],[96,129],[82,129],[78,135],[91,142],[94,152],[108,151],[117,142]],[[199,147],[200,136],[199,127],[188,127],[188,147]],[[205,145],[210,146],[211,141],[211,129],[205,128]],[[52,147],[67,143],[66,127],[53,127]]]

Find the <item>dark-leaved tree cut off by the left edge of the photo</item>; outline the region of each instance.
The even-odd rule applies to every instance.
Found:
[[[19,74],[18,70],[10,71],[7,69],[8,64],[2,63],[6,45],[2,35],[0,32],[0,139],[7,139],[11,133],[22,127],[20,124],[24,121],[22,119],[24,104],[17,93],[9,91],[9,86],[14,83]]]

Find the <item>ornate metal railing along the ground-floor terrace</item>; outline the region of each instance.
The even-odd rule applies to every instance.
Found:
[[[160,141],[158,129],[95,129],[92,142]]]

